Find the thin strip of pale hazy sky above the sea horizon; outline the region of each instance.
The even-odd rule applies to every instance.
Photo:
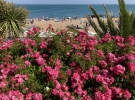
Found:
[[[118,4],[118,0],[6,0],[15,4]],[[135,4],[135,0],[124,0],[126,4]]]

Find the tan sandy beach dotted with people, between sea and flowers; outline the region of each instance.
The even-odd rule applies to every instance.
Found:
[[[106,22],[106,18],[102,18],[102,19]],[[96,18],[93,18],[92,20],[97,23]],[[113,20],[117,20],[117,18],[113,18]],[[51,24],[54,30],[57,30],[57,29],[65,29],[66,26],[70,26],[70,25],[73,25],[73,26],[78,25],[78,27],[85,27],[86,23],[88,23],[87,18],[79,18],[76,20],[66,19],[65,21],[60,21],[60,22],[55,22],[53,19],[48,20],[48,21],[41,19],[41,20],[34,20],[32,24],[29,23],[29,24],[26,24],[26,26],[28,28],[30,26],[35,25],[37,27],[40,27],[42,30],[46,30],[49,24]],[[89,31],[95,32],[95,30],[91,26],[89,25],[87,26],[89,27]]]

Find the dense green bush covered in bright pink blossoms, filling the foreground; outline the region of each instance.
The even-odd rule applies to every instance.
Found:
[[[135,37],[58,31],[0,38],[1,100],[135,100]]]

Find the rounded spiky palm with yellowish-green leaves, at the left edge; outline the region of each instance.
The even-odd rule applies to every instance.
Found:
[[[3,38],[22,36],[28,13],[24,7],[0,0],[0,35]]]

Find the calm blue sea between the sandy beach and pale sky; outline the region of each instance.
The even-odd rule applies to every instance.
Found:
[[[33,18],[68,18],[74,17],[86,17],[87,15],[92,15],[88,5],[77,5],[77,4],[64,4],[64,5],[19,5],[27,8],[29,10],[29,19]],[[103,5],[91,5],[98,14],[105,15],[105,10]],[[106,5],[108,12],[112,12],[113,16],[117,17],[119,15],[119,6],[117,4]],[[128,11],[135,12],[135,5],[126,5]]]

